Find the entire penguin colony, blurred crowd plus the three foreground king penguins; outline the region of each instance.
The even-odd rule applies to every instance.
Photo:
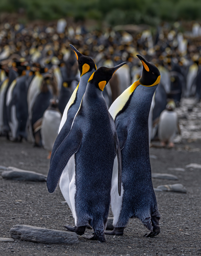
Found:
[[[90,34],[64,20],[34,29],[4,24],[0,134],[48,151],[48,190],[60,179],[75,219],[67,230],[82,235],[89,224],[91,239],[105,242],[136,217],[149,229],[146,237],[160,233],[149,143],[158,137],[172,147],[180,132],[175,106],[183,96],[200,101],[199,49],[187,48],[193,31],[187,42],[177,27],[160,28],[154,45],[149,30]],[[105,231],[110,203],[114,230]]]

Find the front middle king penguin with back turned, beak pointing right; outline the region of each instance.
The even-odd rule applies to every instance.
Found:
[[[75,219],[74,227],[65,227],[82,235],[86,225],[90,224],[94,230],[90,239],[100,242],[105,242],[116,155],[117,187],[121,194],[120,146],[103,89],[114,72],[124,64],[114,68],[100,67],[92,73],[71,130],[55,152],[47,176],[50,193],[54,192],[61,177],[59,186]]]

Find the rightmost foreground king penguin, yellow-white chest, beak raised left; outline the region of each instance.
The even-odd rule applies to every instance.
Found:
[[[118,177],[115,158],[112,174],[111,208],[113,231],[109,235],[123,235],[129,218],[139,218],[150,230],[149,236],[160,233],[156,196],[149,161],[148,116],[152,98],[160,81],[158,68],[137,55],[142,61],[141,78],[126,89],[110,106],[115,120],[122,156],[122,187],[118,196]]]

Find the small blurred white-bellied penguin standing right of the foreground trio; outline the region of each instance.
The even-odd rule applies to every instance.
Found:
[[[168,144],[169,147],[174,147],[172,140],[177,132],[180,133],[178,117],[174,109],[175,103],[171,100],[168,102],[166,109],[162,111],[159,118],[158,137],[162,146]]]

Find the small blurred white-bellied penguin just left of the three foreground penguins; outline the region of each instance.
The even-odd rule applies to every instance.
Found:
[[[50,159],[52,148],[56,140],[59,125],[61,122],[61,113],[58,109],[58,100],[51,99],[50,105],[45,110],[42,118],[41,137],[43,147],[49,152],[47,159]]]

